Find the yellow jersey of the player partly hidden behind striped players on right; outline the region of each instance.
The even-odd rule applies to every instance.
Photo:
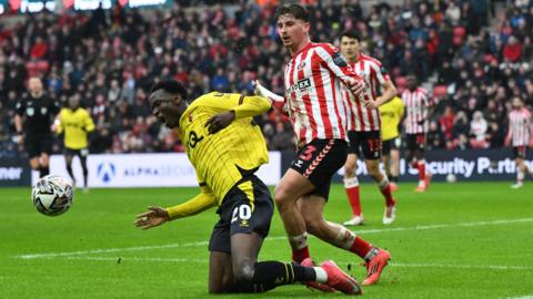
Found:
[[[381,137],[383,141],[398,137],[398,125],[402,121],[404,111],[405,104],[398,95],[380,106]]]

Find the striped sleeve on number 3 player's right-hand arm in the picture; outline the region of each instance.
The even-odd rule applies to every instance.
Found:
[[[324,62],[324,66],[332,71],[344,85],[352,80],[362,81],[355,71],[348,64],[342,53],[334,45],[324,43],[316,47],[316,54]]]

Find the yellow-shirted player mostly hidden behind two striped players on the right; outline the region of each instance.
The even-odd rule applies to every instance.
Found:
[[[390,102],[379,107],[381,116],[381,137],[383,140],[382,161],[386,176],[391,181],[391,190],[398,190],[400,176],[400,123],[405,112],[405,104],[400,96],[394,96]]]

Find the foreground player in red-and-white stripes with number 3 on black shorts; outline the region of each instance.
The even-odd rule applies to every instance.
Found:
[[[345,100],[341,92],[348,86],[352,93],[360,94],[364,81],[335,47],[311,42],[309,12],[302,6],[279,7],[275,20],[291,60],[284,72],[284,97],[266,95],[286,109],[296,138],[296,158],[274,192],[292,259],[313,265],[308,247],[309,231],[363,258],[366,265],[363,285],[375,283],[390,254],[345,227],[328,221],[323,215],[331,178],[344,165],[348,154]],[[258,85],[259,92],[264,90]],[[323,285],[310,286],[328,291]]]

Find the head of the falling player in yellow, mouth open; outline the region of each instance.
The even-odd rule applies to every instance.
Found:
[[[187,109],[187,101],[177,94],[158,90],[150,95],[152,114],[170,128],[180,125],[180,117]]]

